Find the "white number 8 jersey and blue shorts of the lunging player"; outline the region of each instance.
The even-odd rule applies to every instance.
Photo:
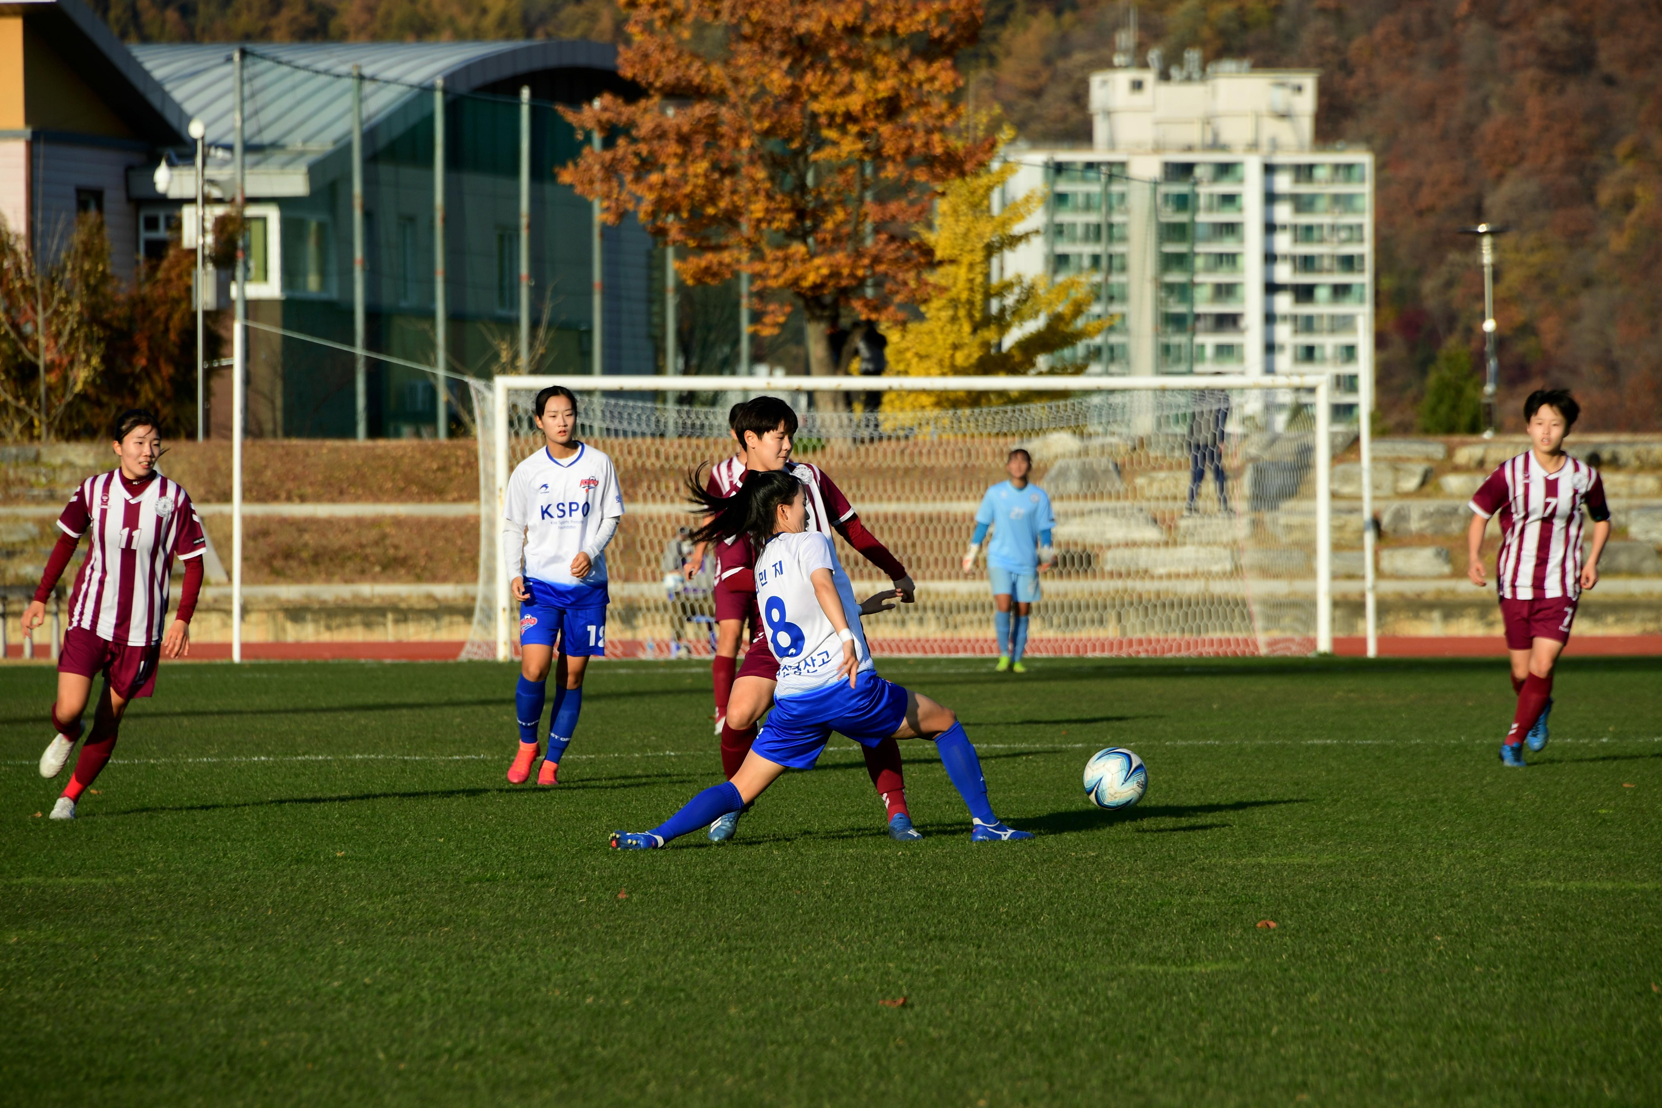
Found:
[[[843,601],[843,618],[854,633],[854,688],[838,674],[843,641],[814,593],[814,570],[829,570]],[[878,676],[859,623],[854,586],[819,532],[774,535],[756,556],[756,603],[768,650],[779,661],[773,711],[753,749],[768,761],[809,769],[833,731],[863,746],[876,746],[906,719],[906,689]]]

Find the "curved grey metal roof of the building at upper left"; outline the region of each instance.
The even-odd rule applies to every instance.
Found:
[[[208,141],[231,146],[233,65],[238,43],[145,43],[128,50],[184,111],[208,128]],[[241,43],[249,153],[283,148],[324,154],[351,141],[352,65],[364,71],[364,126],[414,96],[465,93],[537,70],[617,70],[617,48],[582,40],[437,43]],[[299,68],[297,68],[299,66]],[[425,88],[422,88],[425,86]]]

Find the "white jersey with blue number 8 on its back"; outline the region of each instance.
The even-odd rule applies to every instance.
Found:
[[[843,643],[819,608],[814,570],[831,570],[836,595],[843,600],[843,618],[854,633],[859,668],[876,668],[859,625],[854,586],[838,561],[831,538],[819,532],[774,535],[756,555],[756,603],[766,625],[768,650],[779,659],[776,699],[848,679],[848,674],[838,678],[836,673],[843,663]]]

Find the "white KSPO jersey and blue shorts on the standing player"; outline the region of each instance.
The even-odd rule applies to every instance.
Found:
[[[543,447],[514,468],[504,505],[502,552],[509,578],[524,576],[520,643],[553,645],[567,655],[605,653],[605,548],[623,517],[612,458],[582,444],[558,460]],[[588,555],[588,573],[572,560]]]

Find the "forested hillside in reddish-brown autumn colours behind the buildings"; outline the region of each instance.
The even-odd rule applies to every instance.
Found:
[[[131,40],[608,38],[612,0],[95,0]],[[1085,75],[1122,3],[989,0],[972,95],[1032,141],[1087,140]],[[1587,425],[1662,427],[1662,3],[1155,0],[1138,53],[1323,71],[1323,141],[1379,158],[1379,407],[1411,429],[1426,374],[1481,362],[1461,224],[1514,228],[1499,324],[1509,425],[1539,382]],[[1448,427],[1433,427],[1444,430]],[[1453,429],[1449,429],[1453,430]]]

